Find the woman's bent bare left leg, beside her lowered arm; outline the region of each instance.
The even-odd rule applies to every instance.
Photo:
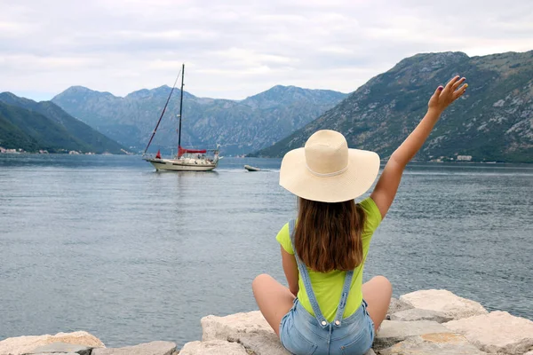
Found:
[[[261,274],[255,278],[251,283],[251,288],[263,317],[279,336],[280,322],[292,308],[294,295],[290,293],[289,288],[284,287],[267,274]]]

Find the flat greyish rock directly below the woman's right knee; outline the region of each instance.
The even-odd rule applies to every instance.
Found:
[[[374,340],[373,349],[380,351],[395,343],[404,341],[409,336],[431,333],[452,333],[448,328],[432,320],[384,320],[381,330]]]

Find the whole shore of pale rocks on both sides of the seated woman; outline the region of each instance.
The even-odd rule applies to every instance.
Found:
[[[393,299],[389,315],[368,354],[378,355],[533,355],[533,321],[507,312],[488,312],[481,304],[447,290],[422,290]],[[260,312],[201,320],[202,341],[181,350],[171,342],[106,348],[87,332],[19,336],[0,342],[0,355],[282,355]]]

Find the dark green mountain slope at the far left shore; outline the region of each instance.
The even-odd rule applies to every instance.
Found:
[[[0,146],[4,148],[123,154],[123,146],[76,120],[51,101],[36,102],[2,92],[0,104]]]

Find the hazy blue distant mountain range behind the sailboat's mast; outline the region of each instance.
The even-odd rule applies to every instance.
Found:
[[[120,98],[74,86],[52,102],[124,146],[142,150],[170,91],[162,86]],[[172,94],[155,136],[156,147],[175,148],[178,144],[179,94],[179,89]],[[243,100],[197,98],[187,91],[183,94],[182,146],[210,148],[219,143],[225,155],[271,146],[346,97],[337,91],[279,85]]]

